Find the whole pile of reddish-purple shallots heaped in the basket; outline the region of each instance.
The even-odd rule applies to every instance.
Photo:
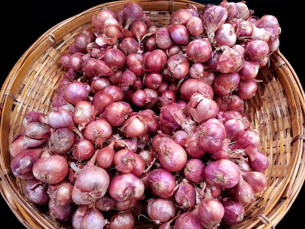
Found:
[[[251,14],[188,3],[158,28],[137,3],[101,10],[60,59],[53,110],[29,112],[11,144],[27,198],[75,229],[241,222],[269,165],[243,99],[281,31]]]

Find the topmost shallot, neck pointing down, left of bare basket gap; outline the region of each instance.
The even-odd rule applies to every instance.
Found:
[[[143,10],[141,6],[135,2],[126,3],[123,10],[125,17],[125,29],[128,29],[134,21],[142,19]]]

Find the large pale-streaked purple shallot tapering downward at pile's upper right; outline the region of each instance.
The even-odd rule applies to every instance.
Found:
[[[228,12],[226,8],[222,6],[210,7],[203,13],[202,20],[209,39],[214,38],[215,31],[225,23],[227,17]]]

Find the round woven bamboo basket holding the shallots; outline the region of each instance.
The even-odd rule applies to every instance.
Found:
[[[117,11],[129,0],[95,6],[57,24],[23,54],[2,85],[0,103],[0,192],[19,221],[26,228],[71,228],[55,222],[46,211],[31,204],[25,195],[24,182],[10,170],[12,138],[22,129],[28,111],[47,114],[56,95],[57,82],[64,69],[59,63],[63,53],[82,30],[92,27],[91,19],[102,8]],[[188,0],[133,0],[141,5],[153,24],[169,23],[170,15],[185,8]],[[192,2],[199,10],[204,5]],[[305,100],[301,83],[286,58],[279,52],[270,57],[269,67],[260,70],[263,82],[256,95],[245,101],[252,128],[258,129],[261,152],[267,154],[270,166],[265,172],[267,189],[256,195],[246,207],[246,218],[231,229],[274,228],[284,217],[299,193],[305,178],[304,119]],[[148,221],[135,228],[152,228]]]

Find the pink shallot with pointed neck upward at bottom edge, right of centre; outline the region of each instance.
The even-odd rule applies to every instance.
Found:
[[[222,204],[214,199],[208,191],[198,206],[198,217],[205,228],[215,228],[220,224],[225,213]]]

